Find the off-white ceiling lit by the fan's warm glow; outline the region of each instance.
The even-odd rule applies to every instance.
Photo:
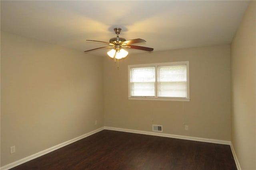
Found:
[[[230,44],[249,1],[3,1],[1,30],[85,51],[116,37],[154,51]],[[106,55],[109,49],[92,51]],[[128,49],[131,53],[138,50]],[[145,52],[144,52],[145,53]]]

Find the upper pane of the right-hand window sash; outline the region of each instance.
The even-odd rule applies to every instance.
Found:
[[[160,82],[186,81],[186,66],[164,66],[159,69]]]

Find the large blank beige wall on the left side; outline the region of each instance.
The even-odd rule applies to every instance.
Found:
[[[1,166],[103,127],[102,67],[102,57],[1,32]]]

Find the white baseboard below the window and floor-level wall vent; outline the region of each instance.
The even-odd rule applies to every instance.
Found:
[[[121,132],[130,132],[130,133],[138,133],[143,135],[153,135],[153,136],[160,136],[160,137],[170,137],[170,138],[176,138],[176,139],[185,139],[190,141],[200,141],[200,142],[208,142],[208,143],[217,143],[217,144],[223,144],[223,145],[230,145],[230,141],[222,141],[222,140],[216,140],[216,139],[206,139],[206,138],[199,138],[199,137],[189,137],[189,136],[182,136],[182,135],[171,135],[167,133],[159,133],[159,132],[149,132],[149,131],[138,131],[133,129],[122,129],[117,127],[104,127],[106,130],[112,130],[112,131],[121,131]]]

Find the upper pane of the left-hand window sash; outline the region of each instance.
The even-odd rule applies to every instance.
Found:
[[[132,68],[132,82],[154,82],[155,68]]]

